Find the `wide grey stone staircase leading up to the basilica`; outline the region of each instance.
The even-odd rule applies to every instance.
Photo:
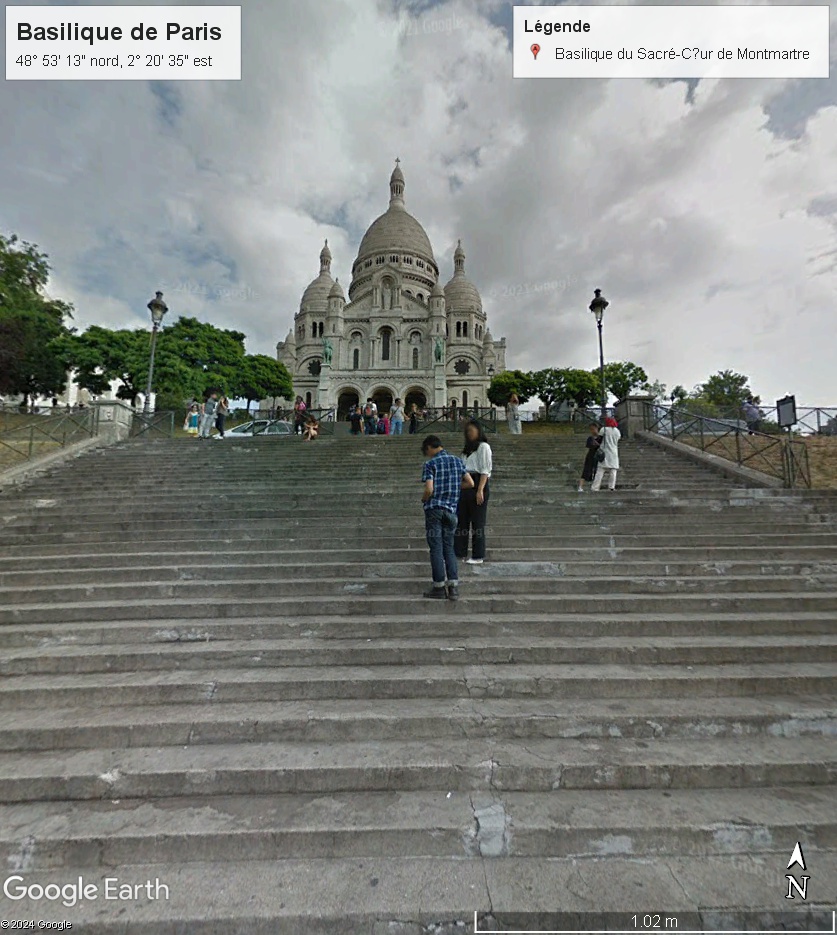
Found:
[[[830,928],[834,495],[632,443],[579,495],[583,438],[492,443],[458,604],[421,598],[415,438],[140,440],[0,497],[5,877],[100,887],[0,918]]]

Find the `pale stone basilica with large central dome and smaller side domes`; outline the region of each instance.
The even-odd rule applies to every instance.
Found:
[[[326,241],[320,274],[302,294],[277,357],[309,406],[336,406],[340,417],[370,397],[379,410],[396,397],[408,407],[489,406],[506,339],[495,341],[488,330],[462,244],[442,288],[427,234],[405,207],[398,160],[389,191],[389,207],[360,242],[348,301],[332,278]]]

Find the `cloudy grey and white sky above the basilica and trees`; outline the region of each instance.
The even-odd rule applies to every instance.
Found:
[[[610,359],[837,404],[837,78],[515,81],[496,0],[242,5],[239,82],[2,84],[0,229],[79,325],[162,289],[272,353],[325,237],[348,285],[399,156],[509,366],[595,366],[600,287]]]

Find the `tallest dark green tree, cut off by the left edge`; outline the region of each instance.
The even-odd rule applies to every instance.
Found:
[[[66,369],[56,342],[69,334],[72,306],[44,294],[49,279],[45,253],[16,234],[0,234],[0,393],[60,393]]]

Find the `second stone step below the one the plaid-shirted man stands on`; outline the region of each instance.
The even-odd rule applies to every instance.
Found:
[[[467,628],[460,628],[464,633]],[[424,631],[422,631],[423,633]],[[91,672],[145,672],[241,666],[392,666],[497,665],[720,665],[783,661],[837,661],[837,633],[797,633],[791,644],[785,636],[671,636],[570,637],[515,634],[490,636],[352,639],[298,635],[278,639],[209,639],[149,646],[129,643],[119,630],[102,635],[101,645],[54,644],[42,640],[37,648],[6,649],[0,675],[59,675]]]

